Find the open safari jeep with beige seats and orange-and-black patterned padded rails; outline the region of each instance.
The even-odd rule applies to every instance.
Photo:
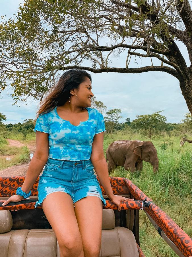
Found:
[[[16,194],[24,179],[25,176],[0,177],[0,256],[58,257],[59,245],[53,229],[42,207],[34,208],[38,199],[39,177],[28,200],[2,206],[5,200]],[[100,256],[144,256],[139,247],[139,210],[146,213],[160,236],[178,256],[192,256],[192,239],[131,180],[110,177],[110,182],[114,194],[133,198],[134,201],[123,201],[119,212],[100,184],[107,203],[103,206]],[[19,211],[10,211],[16,209]]]

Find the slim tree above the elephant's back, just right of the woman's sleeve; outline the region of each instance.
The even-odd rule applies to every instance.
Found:
[[[119,119],[122,118],[122,116],[119,116],[119,113],[121,113],[120,109],[110,109],[106,116],[104,117],[105,120],[105,127],[107,130],[107,135],[112,132],[115,129],[115,125],[119,123]]]

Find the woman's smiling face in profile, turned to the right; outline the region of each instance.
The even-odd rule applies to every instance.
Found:
[[[73,90],[71,90],[71,92],[73,92]],[[74,101],[78,101],[78,104],[82,107],[90,107],[91,106],[91,100],[90,98],[92,98],[94,96],[94,94],[92,93],[92,86],[91,86],[91,81],[88,77],[86,77],[85,81],[80,83],[79,85],[79,90],[77,91],[77,89],[74,89],[75,94],[72,97],[72,99],[74,98]]]

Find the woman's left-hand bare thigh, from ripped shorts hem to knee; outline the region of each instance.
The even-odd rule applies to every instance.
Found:
[[[48,219],[59,246],[70,248],[79,243],[82,246],[77,218],[75,216],[73,200],[65,192],[48,194],[42,202],[42,209]]]

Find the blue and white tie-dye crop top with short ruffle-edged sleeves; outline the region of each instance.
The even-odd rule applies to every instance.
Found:
[[[34,131],[48,133],[49,157],[59,160],[88,160],[95,134],[106,131],[104,117],[97,109],[86,108],[89,118],[72,125],[57,114],[57,107],[40,114]]]

